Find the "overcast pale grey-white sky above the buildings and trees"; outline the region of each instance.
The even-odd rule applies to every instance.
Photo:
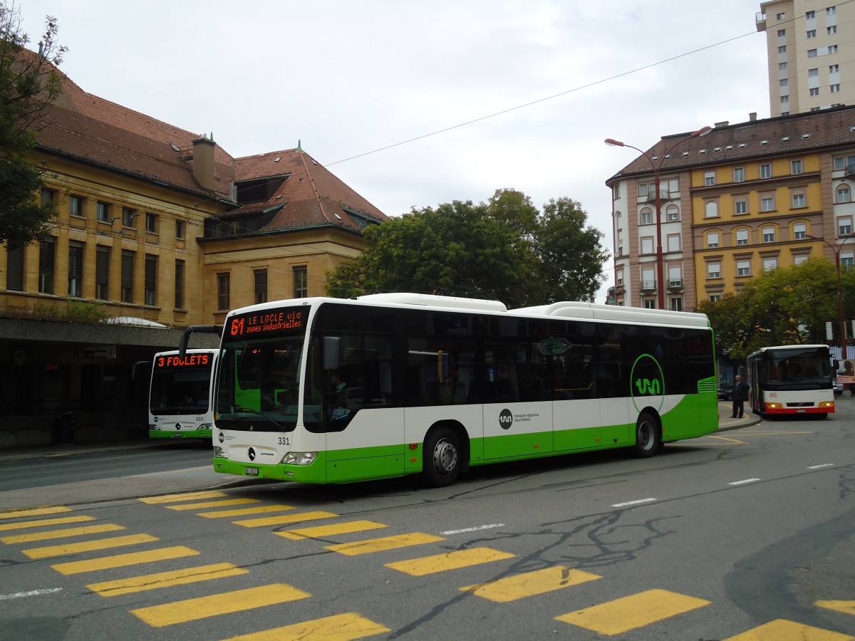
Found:
[[[5,0],[4,0],[5,1]],[[89,93],[232,156],[303,149],[386,215],[513,188],[570,197],[612,249],[604,182],[670,133],[769,117],[747,0],[16,0]],[[604,266],[606,285],[612,263]]]

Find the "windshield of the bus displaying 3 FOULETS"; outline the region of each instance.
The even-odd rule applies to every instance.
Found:
[[[197,362],[198,361],[198,362]],[[199,415],[208,411],[210,355],[162,356],[151,372],[150,410],[155,416]]]

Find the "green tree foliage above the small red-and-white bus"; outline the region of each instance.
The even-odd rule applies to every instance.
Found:
[[[841,273],[845,315],[855,315],[855,271]],[[743,362],[752,351],[770,345],[828,343],[825,324],[838,330],[837,271],[830,262],[814,258],[789,268],[763,273],[738,294],[728,293],[712,303],[701,301],[698,311],[710,317],[716,350]]]

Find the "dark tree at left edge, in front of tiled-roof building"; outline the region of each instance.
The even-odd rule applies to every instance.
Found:
[[[62,91],[56,66],[66,48],[56,32],[47,16],[38,53],[27,50],[21,10],[0,3],[0,244],[9,250],[44,238],[56,213],[52,202],[38,200],[45,168],[32,160],[36,134]]]

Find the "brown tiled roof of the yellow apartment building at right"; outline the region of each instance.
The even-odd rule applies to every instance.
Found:
[[[690,132],[671,134],[654,144],[647,150],[647,154],[657,165],[662,163],[663,171],[696,166],[711,167],[748,158],[782,156],[852,145],[855,143],[852,127],[855,127],[855,107],[823,109],[736,125],[716,126],[699,138],[684,139]],[[663,160],[663,154],[672,146],[674,148],[669,157]],[[652,173],[651,161],[645,156],[638,156],[606,180],[606,184],[634,173]]]

